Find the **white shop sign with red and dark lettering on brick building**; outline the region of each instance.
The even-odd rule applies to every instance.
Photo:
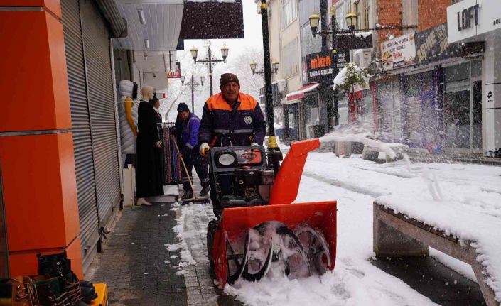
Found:
[[[383,70],[416,65],[414,33],[387,40],[381,44]]]

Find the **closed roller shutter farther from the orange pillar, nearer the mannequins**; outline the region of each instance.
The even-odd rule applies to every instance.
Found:
[[[87,68],[87,92],[94,153],[97,207],[101,226],[107,226],[120,202],[117,125],[112,82],[109,29],[95,1],[80,0]]]

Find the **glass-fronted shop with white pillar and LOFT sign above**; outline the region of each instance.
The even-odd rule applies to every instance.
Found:
[[[489,155],[501,147],[501,6],[463,0],[447,8],[447,22],[448,42],[472,59],[444,69],[447,139]]]

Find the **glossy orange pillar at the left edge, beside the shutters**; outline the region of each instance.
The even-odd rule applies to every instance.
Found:
[[[82,278],[68,73],[59,0],[0,0],[0,167],[9,272],[68,252]]]

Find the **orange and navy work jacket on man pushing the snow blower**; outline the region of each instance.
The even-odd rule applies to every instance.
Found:
[[[252,141],[262,145],[265,133],[266,121],[256,99],[240,92],[232,107],[219,93],[210,97],[203,106],[198,143],[249,146]]]

